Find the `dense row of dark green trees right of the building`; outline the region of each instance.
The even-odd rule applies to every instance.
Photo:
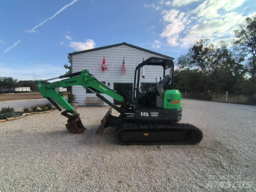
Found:
[[[209,39],[194,41],[188,52],[175,60],[175,87],[191,93],[191,98],[211,99],[228,91],[256,102],[256,15],[234,30],[231,44],[218,45]]]

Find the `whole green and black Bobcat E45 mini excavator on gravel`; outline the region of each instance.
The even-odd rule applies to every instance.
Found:
[[[163,67],[163,79],[160,78],[154,87],[149,83],[139,86],[140,69],[146,65]],[[166,69],[170,69],[170,74],[165,75]],[[86,128],[81,122],[80,114],[55,88],[80,85],[95,93],[97,97],[120,113],[119,116],[113,116],[111,115],[112,108],[110,108],[101,120],[96,134],[103,134],[106,127],[116,127],[115,139],[121,145],[189,145],[197,144],[202,140],[202,132],[197,127],[177,123],[182,118],[181,93],[174,89],[172,59],[150,57],[136,67],[133,88],[135,94],[133,94],[131,103],[127,102],[125,93],[112,90],[86,69],[47,80],[58,78],[67,79],[50,84],[36,81],[36,86],[42,96],[47,98],[61,112],[61,115],[68,118],[66,128],[71,133],[81,134]],[[121,102],[121,105],[114,105],[99,92],[116,99]]]

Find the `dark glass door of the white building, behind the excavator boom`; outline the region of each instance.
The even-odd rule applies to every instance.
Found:
[[[127,103],[132,103],[132,83],[114,83],[114,90],[126,94]],[[122,102],[114,99],[114,105],[121,105]]]

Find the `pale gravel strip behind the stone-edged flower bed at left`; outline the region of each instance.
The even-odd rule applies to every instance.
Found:
[[[67,100],[67,97],[66,97]],[[24,107],[31,107],[37,104],[49,103],[47,99],[28,99],[28,100],[17,100],[17,101],[2,101],[0,102],[0,109],[2,107],[13,107],[15,111],[23,111]]]

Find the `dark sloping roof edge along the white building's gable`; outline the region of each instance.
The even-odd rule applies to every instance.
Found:
[[[130,47],[133,47],[133,48],[136,48],[136,49],[140,49],[140,50],[143,50],[143,51],[146,51],[146,52],[149,52],[149,53],[153,53],[153,54],[156,54],[156,55],[159,55],[159,56],[162,56],[162,57],[166,57],[166,58],[169,58],[169,59],[174,59],[173,57],[169,57],[167,55],[163,55],[163,54],[157,53],[155,51],[151,51],[151,50],[148,50],[148,49],[137,47],[135,45],[131,45],[131,44],[126,43],[126,42],[122,42],[122,43],[118,43],[118,44],[114,44],[114,45],[108,45],[108,46],[104,46],[104,47],[98,47],[98,48],[94,48],[94,49],[87,49],[87,50],[84,50],[84,51],[72,52],[72,53],[68,53],[68,55],[71,56],[71,55],[76,55],[76,54],[79,54],[79,53],[86,53],[86,52],[90,52],[90,51],[96,51],[96,50],[106,49],[106,48],[110,48],[110,47],[116,47],[116,46],[120,46],[120,45],[127,45],[127,46],[130,46]]]

